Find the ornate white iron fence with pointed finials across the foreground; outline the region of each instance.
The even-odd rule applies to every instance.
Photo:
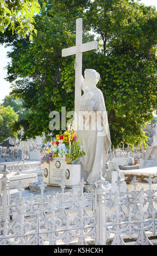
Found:
[[[9,196],[7,170],[1,179],[1,245],[125,245],[132,239],[135,245],[152,245],[150,236],[157,234],[157,194],[152,189],[137,191],[137,180],[133,179],[134,191],[121,191],[122,182],[117,180],[117,191],[105,193],[104,179],[100,173],[95,191],[84,193],[84,182],[80,192],[61,192],[22,197]]]

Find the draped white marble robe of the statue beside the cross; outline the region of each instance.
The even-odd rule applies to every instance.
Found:
[[[86,154],[81,158],[81,177],[89,184],[95,184],[96,179],[99,176],[99,171],[102,170],[103,175],[105,173],[105,164],[111,141],[103,93],[97,87],[89,91],[93,93],[92,100],[95,101],[93,111],[99,111],[101,114],[96,116],[96,130],[84,129],[83,131],[79,131],[81,144],[83,145],[83,150]],[[84,100],[86,92],[81,96],[81,101]],[[99,121],[101,120],[102,124],[101,134],[96,125],[98,119]],[[84,123],[85,122],[86,120]],[[91,119],[89,123],[91,126]]]

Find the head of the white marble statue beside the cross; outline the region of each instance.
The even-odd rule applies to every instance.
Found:
[[[100,75],[95,69],[85,69],[85,86],[96,86],[99,81]]]

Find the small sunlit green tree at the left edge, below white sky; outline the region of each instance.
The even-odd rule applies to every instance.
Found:
[[[12,126],[18,120],[18,114],[10,107],[0,105],[0,142],[8,137],[15,138],[17,133],[12,131]]]

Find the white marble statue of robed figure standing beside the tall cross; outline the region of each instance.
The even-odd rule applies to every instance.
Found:
[[[86,154],[81,159],[81,177],[87,184],[95,184],[100,170],[104,175],[111,141],[104,96],[101,90],[96,87],[100,76],[93,69],[86,69],[84,75],[85,78],[82,77],[84,94],[81,96],[80,110],[90,113],[90,119],[88,119],[90,129],[79,130],[81,144]],[[96,117],[95,119],[92,119],[92,114]],[[92,123],[92,126],[93,120],[95,125]],[[85,122],[86,118],[84,117]],[[91,127],[96,127],[96,129],[91,129]]]

